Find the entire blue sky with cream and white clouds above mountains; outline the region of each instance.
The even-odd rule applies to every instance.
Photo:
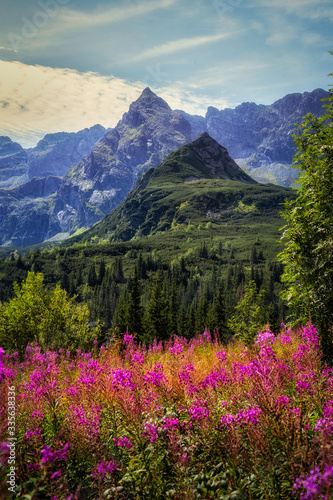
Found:
[[[114,127],[149,86],[173,109],[328,89],[332,0],[0,0],[0,135]]]

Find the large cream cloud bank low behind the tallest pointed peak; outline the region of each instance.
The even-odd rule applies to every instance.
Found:
[[[76,132],[96,123],[114,127],[147,86],[93,72],[1,60],[0,74],[0,135],[24,147],[34,146],[47,133]],[[156,93],[173,109],[189,113],[204,114],[208,105],[224,104],[177,82]]]

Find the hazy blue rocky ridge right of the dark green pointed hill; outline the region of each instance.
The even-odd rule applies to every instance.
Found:
[[[297,170],[290,168],[296,152],[295,123],[301,123],[307,113],[323,114],[321,99],[328,95],[317,89],[289,94],[270,106],[243,103],[221,111],[210,107],[206,129],[252,177],[290,186],[298,177]]]

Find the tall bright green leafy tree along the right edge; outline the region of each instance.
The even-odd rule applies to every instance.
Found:
[[[298,127],[295,166],[301,169],[295,200],[285,204],[282,297],[294,323],[311,314],[327,357],[333,354],[333,89],[321,118],[308,114]]]

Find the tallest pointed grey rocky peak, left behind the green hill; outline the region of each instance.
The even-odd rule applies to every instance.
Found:
[[[117,126],[61,184],[52,217],[62,231],[91,226],[124,200],[151,167],[191,140],[191,126],[146,88]]]

